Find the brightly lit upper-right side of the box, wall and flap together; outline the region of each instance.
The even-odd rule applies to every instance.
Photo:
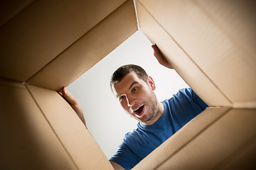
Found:
[[[139,0],[137,13],[142,31],[159,45],[178,74],[206,103],[210,106],[250,103],[253,108],[256,106],[254,6],[254,1],[156,4]],[[176,52],[175,45],[183,55]]]

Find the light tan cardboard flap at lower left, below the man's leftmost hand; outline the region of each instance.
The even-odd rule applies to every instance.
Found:
[[[57,92],[30,85],[28,89],[78,169],[112,169],[78,115]]]

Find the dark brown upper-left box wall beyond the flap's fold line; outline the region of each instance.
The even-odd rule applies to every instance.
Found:
[[[35,1],[0,28],[0,77],[26,81],[123,2]]]

